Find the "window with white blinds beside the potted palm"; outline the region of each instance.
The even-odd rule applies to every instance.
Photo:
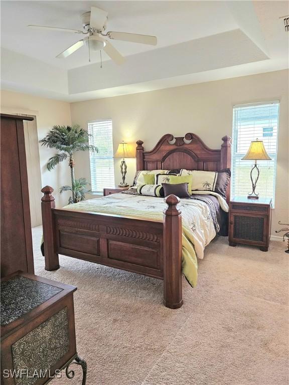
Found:
[[[87,126],[89,143],[98,148],[98,152],[90,152],[91,190],[102,193],[104,187],[114,187],[112,120],[94,120]]]

